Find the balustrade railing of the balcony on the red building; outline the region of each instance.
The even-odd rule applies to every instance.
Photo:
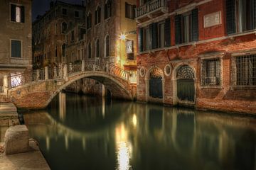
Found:
[[[156,11],[162,7],[166,7],[166,0],[152,0],[146,2],[146,4],[139,6],[136,8],[136,17],[144,16],[146,13],[150,13],[151,11]]]

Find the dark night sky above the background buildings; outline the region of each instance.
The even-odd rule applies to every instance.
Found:
[[[43,15],[50,8],[52,0],[33,0],[32,1],[32,18],[35,21],[36,16]],[[82,4],[82,0],[61,0],[70,4]]]

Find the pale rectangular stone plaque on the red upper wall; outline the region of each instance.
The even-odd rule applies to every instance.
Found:
[[[217,26],[221,24],[221,11],[203,16],[203,28]]]

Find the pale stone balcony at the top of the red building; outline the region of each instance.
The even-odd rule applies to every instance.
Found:
[[[136,19],[139,23],[168,13],[167,0],[152,0],[136,8]]]

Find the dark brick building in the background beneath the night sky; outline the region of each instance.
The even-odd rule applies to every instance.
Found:
[[[85,6],[50,2],[50,10],[33,22],[33,67],[82,60]]]

